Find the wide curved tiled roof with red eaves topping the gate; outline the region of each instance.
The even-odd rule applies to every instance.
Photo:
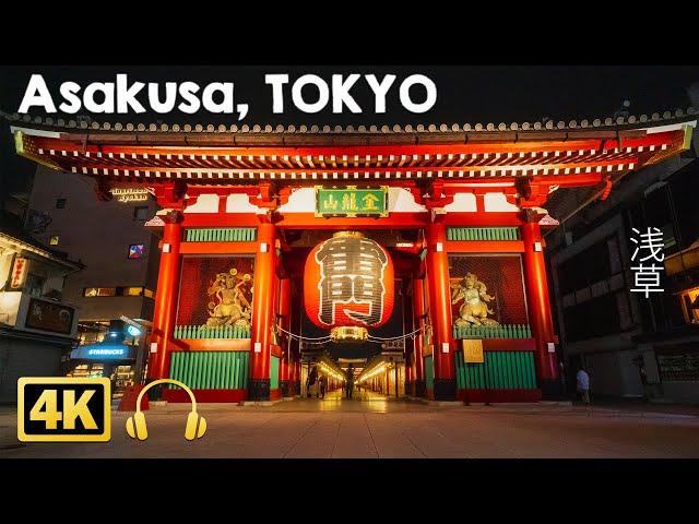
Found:
[[[430,126],[122,124],[5,116],[17,153],[54,169],[123,183],[187,179],[199,184],[256,180],[581,177],[684,151],[697,111],[560,121]],[[28,120],[28,121],[27,121]],[[553,177],[552,177],[553,176]],[[305,183],[304,182],[304,183]],[[479,182],[479,183],[481,183]],[[400,182],[399,182],[400,183]]]

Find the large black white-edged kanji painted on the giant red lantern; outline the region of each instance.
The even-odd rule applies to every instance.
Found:
[[[324,324],[335,323],[339,303],[366,303],[368,313],[344,310],[352,320],[372,325],[383,313],[383,270],[388,263],[386,252],[367,238],[337,237],[327,240],[316,253],[320,264],[320,311]]]

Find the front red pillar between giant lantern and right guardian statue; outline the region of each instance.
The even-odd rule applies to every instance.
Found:
[[[451,333],[451,294],[445,224],[429,224],[425,228],[425,240],[427,243],[427,284],[429,286],[429,310],[434,340],[435,401],[455,401],[454,343]]]

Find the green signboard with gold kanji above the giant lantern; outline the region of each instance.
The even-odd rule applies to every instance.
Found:
[[[380,188],[316,187],[316,216],[389,216],[388,186]]]

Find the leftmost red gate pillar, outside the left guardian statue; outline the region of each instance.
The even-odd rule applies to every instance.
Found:
[[[147,373],[153,380],[166,379],[170,372],[170,346],[179,290],[181,260],[179,245],[182,238],[182,214],[177,211],[163,216],[165,227],[161,242],[161,267],[157,275]]]

